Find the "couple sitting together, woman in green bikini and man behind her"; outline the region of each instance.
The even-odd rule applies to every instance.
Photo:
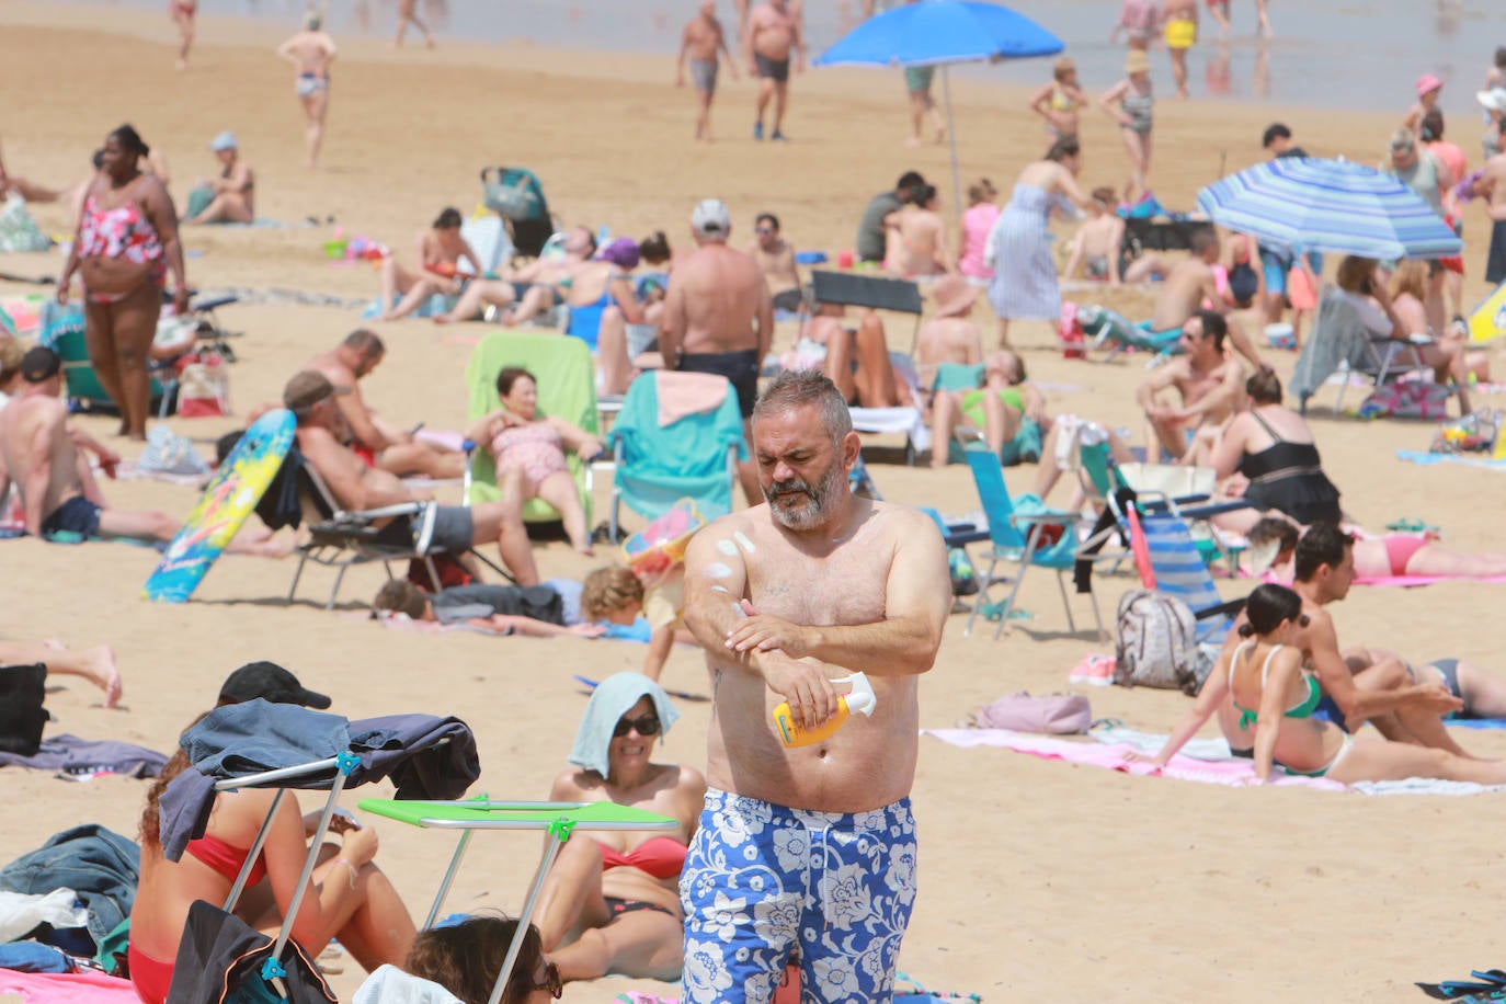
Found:
[[[1456,659],[1414,668],[1389,652],[1340,653],[1328,604],[1354,581],[1354,540],[1337,527],[1309,530],[1295,552],[1292,589],[1258,587],[1224,641],[1193,709],[1152,759],[1164,766],[1218,715],[1235,756],[1253,756],[1256,774],[1271,765],[1352,784],[1437,777],[1506,784],[1506,762],[1468,756],[1440,715],[1465,710],[1468,682],[1476,713],[1506,710],[1506,688]],[[1369,721],[1386,741],[1354,739]]]

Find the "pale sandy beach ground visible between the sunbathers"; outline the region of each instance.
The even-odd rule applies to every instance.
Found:
[[[836,253],[851,247],[866,200],[901,172],[919,169],[938,181],[944,199],[950,193],[943,148],[902,146],[908,120],[898,74],[797,77],[788,128],[795,141],[788,146],[745,138],[753,89],[745,80],[727,81],[715,107],[721,141],[708,146],[690,138],[691,93],[672,87],[672,56],[518,44],[390,53],[375,39],[339,39],[324,166],[310,172],[303,167],[303,119],[291,71],[273,51],[286,32],[202,15],[193,68],[176,74],[176,36],[161,11],[0,0],[0,21],[9,39],[0,65],[0,90],[8,95],[0,141],[12,173],[77,184],[104,134],[130,120],[169,157],[172,191],[181,202],[193,181],[214,169],[208,140],[233,129],[258,172],[258,215],[285,223],[334,217],[346,236],[383,241],[405,260],[440,208],[471,211],[480,199],[476,175],[489,164],[538,172],[553,211],[566,223],[605,224],[640,238],[663,229],[676,247],[688,247],[690,209],[708,196],[732,208],[739,241],[751,236],[753,215],[770,209],[797,247]],[[1041,78],[1048,78],[1045,68]],[[1026,98],[1024,89],[971,80],[953,89],[964,185],[988,176],[1008,191],[1020,167],[1044,151]],[[1277,119],[1316,155],[1375,163],[1404,110],[1339,114],[1163,99],[1154,188],[1164,205],[1190,209],[1200,185],[1262,158],[1261,131]],[[1450,122],[1458,123],[1450,138],[1477,160],[1476,120],[1461,108]],[[1113,122],[1084,113],[1083,143],[1084,185],[1122,185],[1128,167]],[[48,232],[68,226],[62,206],[35,212]],[[324,260],[322,242],[331,232],[327,223],[187,229],[190,281],[203,289],[373,297],[375,271]],[[1482,209],[1471,205],[1465,303],[1485,294],[1486,233]],[[56,253],[0,256],[6,272],[44,275],[60,268]],[[35,289],[0,281],[0,295]],[[1143,315],[1151,298],[1148,291],[1128,291],[1105,303]],[[221,319],[245,333],[235,342],[241,361],[230,370],[241,415],[276,400],[291,373],[360,324],[355,310],[292,304],[236,304]],[[977,319],[992,331],[986,306]],[[907,346],[908,322],[895,324],[892,343]],[[366,381],[366,399],[402,423],[459,427],[462,369],[486,328],[438,330],[426,321],[375,328],[389,355]],[[791,334],[782,328],[780,345]],[[1143,357],[1107,364],[1063,360],[1045,325],[1017,325],[1015,340],[1032,378],[1054,388],[1053,414],[1131,426],[1143,443],[1133,399],[1145,378]],[[1291,354],[1270,358],[1289,376]],[[1351,391],[1349,403],[1358,396]],[[1479,400],[1506,406],[1501,396]],[[1358,421],[1334,415],[1331,403],[1328,388],[1310,423],[1324,467],[1357,522],[1379,530],[1401,516],[1422,516],[1443,527],[1456,549],[1503,546],[1506,483],[1498,471],[1407,465],[1393,452],[1426,450],[1431,426]],[[80,421],[101,438],[114,426],[111,418]],[[233,417],[169,423],[205,452],[238,426]],[[872,474],[892,501],[947,513],[979,506],[964,467],[931,473],[881,462]],[[1027,491],[1035,468],[1011,468],[1006,476],[1012,491]],[[110,482],[105,492],[119,507],[170,513],[187,513],[196,498],[191,488],[158,482]],[[605,492],[598,480],[598,516]],[[459,492],[446,494],[458,500]],[[545,577],[578,577],[608,560],[608,551],[602,548],[593,561],[563,540],[548,540],[538,555]],[[346,577],[336,613],[321,605],[328,573],[309,572],[300,602],[286,605],[294,561],[247,557],[223,558],[193,602],[152,605],[137,595],[154,558],[148,549],[114,543],[0,542],[0,632],[69,646],[110,644],[125,674],[119,710],[105,710],[99,692],[77,679],[54,679],[51,733],[123,739],[167,753],[178,732],[212,704],[230,670],[271,659],[331,694],[334,710],[351,718],[399,710],[462,716],[480,745],[474,790],[542,798],[565,765],[584,706],[572,676],[599,679],[642,662],[640,647],[620,643],[384,628],[363,616],[363,602],[383,578],[373,567]],[[992,641],[992,625],[964,637],[964,617],[952,617],[937,667],[920,685],[922,726],[952,727],[1008,692],[1069,691],[1072,665],[1087,653],[1111,653],[1111,643],[1090,631],[1066,631],[1050,580],[1050,572],[1030,573],[1021,604],[1035,617],[1001,641]],[[1105,619],[1134,586],[1126,575],[1096,580]],[[1226,596],[1250,586],[1220,580]],[[1501,586],[1462,583],[1405,592],[1357,587],[1334,617],[1345,644],[1393,647],[1414,661],[1467,658],[1506,671],[1492,626],[1503,598]],[[1074,611],[1080,626],[1092,623],[1087,598],[1074,598]],[[676,649],[664,682],[709,694],[693,649]],[[1187,707],[1187,698],[1170,691],[1084,692],[1096,718],[1148,732],[1167,732]],[[684,718],[663,759],[703,766],[709,703],[679,707]],[[1458,735],[1473,753],[1506,756],[1506,733]],[[920,897],[901,968],[931,989],[974,992],[992,1002],[1194,1001],[1211,993],[1230,1004],[1411,1001],[1419,998],[1416,980],[1459,978],[1503,963],[1492,876],[1506,852],[1489,828],[1500,813],[1498,795],[1366,798],[1223,789],[920,742],[914,787]],[[0,798],[12,805],[0,828],[0,863],[81,822],[134,837],[145,787],[0,772]],[[387,795],[390,787],[366,793]],[[373,825],[381,838],[378,864],[422,918],[452,840],[386,820]],[[449,908],[515,912],[538,849],[533,837],[480,835]],[[349,999],[360,980],[358,966],[348,962],[331,984]],[[675,993],[648,980],[608,978],[572,984],[565,999],[593,1004],[628,989]]]

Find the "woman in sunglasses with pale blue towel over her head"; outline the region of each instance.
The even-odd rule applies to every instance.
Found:
[[[580,834],[544,881],[538,924],[560,978],[617,972],[673,981],[684,960],[679,872],[706,778],[652,763],[654,742],[679,718],[642,673],[617,673],[592,694],[569,762],[550,801],[616,802],[679,820],[675,831]]]

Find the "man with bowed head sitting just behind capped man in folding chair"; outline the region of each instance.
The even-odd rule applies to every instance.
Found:
[[[393,429],[380,421],[361,397],[360,381],[370,376],[387,355],[381,337],[366,328],[345,336],[337,346],[313,357],[309,369],[324,373],[340,394],[334,403],[349,423],[355,440],[351,447],[372,467],[393,474],[423,474],[434,479],[461,477],[465,456],[432,443],[416,440],[411,432]]]

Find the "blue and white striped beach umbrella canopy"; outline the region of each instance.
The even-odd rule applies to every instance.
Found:
[[[1392,175],[1345,160],[1283,157],[1197,193],[1214,223],[1304,251],[1373,259],[1450,257],[1449,224]]]

